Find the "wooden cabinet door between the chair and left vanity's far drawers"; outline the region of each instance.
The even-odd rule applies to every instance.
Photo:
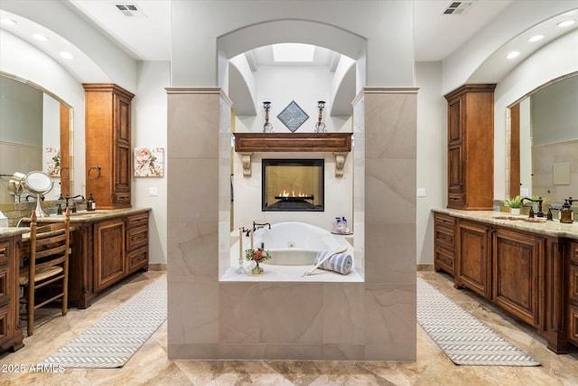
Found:
[[[96,290],[125,276],[125,221],[98,222],[94,227]]]

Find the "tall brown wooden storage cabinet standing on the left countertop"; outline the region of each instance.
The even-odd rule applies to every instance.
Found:
[[[86,97],[86,194],[92,194],[98,209],[130,208],[131,101],[135,95],[114,84],[83,86]]]

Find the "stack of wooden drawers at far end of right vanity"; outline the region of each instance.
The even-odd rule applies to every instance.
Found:
[[[455,274],[455,219],[442,213],[433,213],[433,268]]]

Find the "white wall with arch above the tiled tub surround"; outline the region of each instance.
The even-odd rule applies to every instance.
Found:
[[[172,86],[214,87],[220,84],[216,59],[218,48],[224,48],[217,47],[217,39],[220,42],[221,37],[239,29],[247,30],[247,34],[241,31],[238,39],[231,42],[231,50],[238,51],[228,52],[228,59],[259,45],[306,42],[356,60],[367,54],[371,61],[367,61],[368,71],[359,82],[361,86],[413,86],[413,2],[372,1],[364,2],[363,6],[351,1],[340,2],[338,6],[330,4],[307,0],[173,2]],[[224,9],[227,12],[223,12]],[[301,29],[279,28],[279,23],[307,24],[305,21],[309,20],[317,23],[309,23]],[[275,30],[261,29],[271,21],[277,22]],[[257,28],[245,28],[247,26]],[[344,32],[349,32],[349,36],[342,36]],[[351,44],[354,40],[366,43]]]

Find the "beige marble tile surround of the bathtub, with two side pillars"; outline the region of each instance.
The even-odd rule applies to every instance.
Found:
[[[229,264],[228,99],[167,91],[169,358],[415,360],[415,90],[356,99],[365,283],[219,282]]]

